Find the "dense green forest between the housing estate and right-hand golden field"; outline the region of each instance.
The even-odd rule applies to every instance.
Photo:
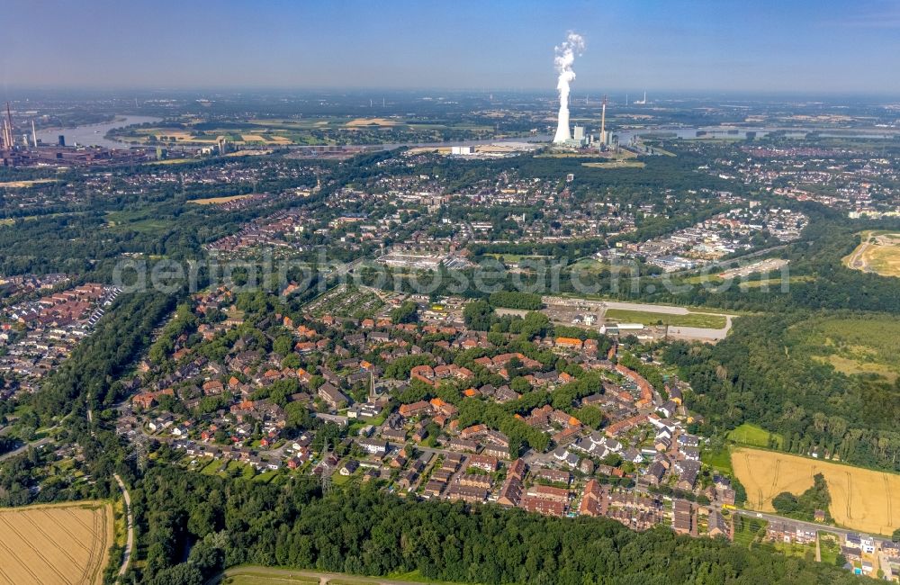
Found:
[[[813,359],[791,328],[819,315],[742,317],[715,346],[674,342],[663,358],[691,383],[689,408],[706,418],[709,435],[752,422],[784,437],[790,453],[815,449],[850,464],[900,471],[900,384],[842,374]]]

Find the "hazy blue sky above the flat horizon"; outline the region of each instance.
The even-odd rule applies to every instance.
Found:
[[[900,93],[900,2],[6,0],[7,87]]]

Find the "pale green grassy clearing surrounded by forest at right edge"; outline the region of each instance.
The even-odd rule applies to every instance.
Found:
[[[900,377],[900,320],[883,315],[806,321],[789,332],[804,352],[842,374],[874,374],[889,383]]]

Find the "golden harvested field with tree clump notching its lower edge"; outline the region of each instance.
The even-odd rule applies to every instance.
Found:
[[[900,475],[876,472],[759,449],[732,452],[737,479],[747,490],[747,507],[774,512],[782,491],[799,495],[822,473],[832,496],[832,517],[842,527],[890,535],[900,528]]]

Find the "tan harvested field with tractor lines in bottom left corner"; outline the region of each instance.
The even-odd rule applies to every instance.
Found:
[[[106,502],[0,509],[0,583],[101,583],[112,538]]]

